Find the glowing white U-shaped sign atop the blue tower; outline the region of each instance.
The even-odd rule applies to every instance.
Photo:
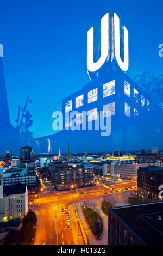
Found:
[[[123,28],[124,31],[124,61],[122,61],[120,56],[120,19],[114,13],[114,53],[118,65],[123,71],[128,70],[129,57],[128,57],[128,30],[126,27]],[[87,32],[87,69],[90,72],[95,72],[102,67],[106,59],[109,60],[110,57],[110,47],[109,47],[109,13],[106,13],[101,19],[101,56],[97,62],[93,61],[94,52],[94,28],[90,28]],[[111,45],[111,44],[110,44]]]

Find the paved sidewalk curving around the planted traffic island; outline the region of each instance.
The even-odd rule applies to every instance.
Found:
[[[88,237],[88,239],[90,241],[90,245],[108,245],[108,216],[104,215],[103,212],[100,210],[99,214],[100,214],[100,216],[102,217],[102,220],[103,220],[103,231],[102,231],[101,239],[100,240],[96,240],[96,238],[93,235],[89,225],[87,224],[87,221],[85,220],[85,216],[83,214],[82,205],[80,205],[80,207],[78,209],[78,214],[80,216],[80,220],[83,223],[83,226],[84,226],[84,229],[86,231],[87,237]]]

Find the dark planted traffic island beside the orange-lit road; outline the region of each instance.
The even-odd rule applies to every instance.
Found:
[[[101,216],[99,215],[98,212],[94,211],[93,209],[87,206],[82,206],[82,209],[83,209],[83,213],[87,221],[87,224],[89,225],[93,235],[95,235],[96,239],[99,239],[103,231],[103,221]],[[95,228],[95,225],[98,223],[97,221],[100,222],[99,231],[97,231],[97,229]]]

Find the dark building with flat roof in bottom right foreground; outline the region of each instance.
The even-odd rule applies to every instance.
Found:
[[[108,245],[162,245],[163,202],[109,208]]]

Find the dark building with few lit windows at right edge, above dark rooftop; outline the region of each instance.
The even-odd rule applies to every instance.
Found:
[[[137,172],[137,193],[145,199],[161,199],[159,187],[163,185],[163,167],[140,167]]]

